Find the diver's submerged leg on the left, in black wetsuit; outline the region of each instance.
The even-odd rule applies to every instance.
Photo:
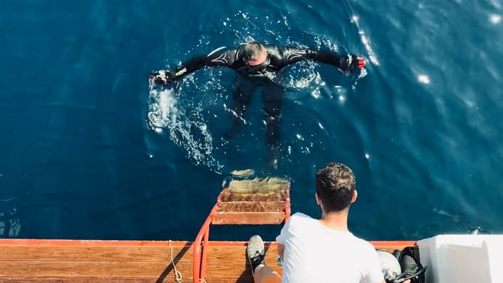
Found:
[[[239,127],[243,123],[243,117],[246,113],[246,107],[251,102],[257,85],[248,78],[236,75],[232,82],[232,108],[231,108],[231,127],[225,133],[226,138],[232,138],[236,135]]]

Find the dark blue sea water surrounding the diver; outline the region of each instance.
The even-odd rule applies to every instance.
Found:
[[[350,229],[365,239],[469,226],[501,233],[502,6],[3,1],[0,236],[191,240],[223,179],[246,168],[290,178],[293,210],[318,216],[314,174],[332,161],[355,172]],[[147,81],[152,70],[250,40],[368,61],[357,81],[312,62],[275,78],[288,92],[272,173],[260,95],[241,134],[222,139],[232,70],[202,69],[177,93],[149,92]],[[279,228],[212,231],[272,240]]]

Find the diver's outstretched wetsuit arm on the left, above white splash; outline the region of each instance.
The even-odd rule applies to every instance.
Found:
[[[196,70],[208,66],[230,67],[235,59],[236,50],[218,52],[221,48],[210,52],[208,55],[198,55],[182,63],[174,70],[158,70],[149,75],[157,85],[166,85],[179,81],[183,77],[196,72]]]

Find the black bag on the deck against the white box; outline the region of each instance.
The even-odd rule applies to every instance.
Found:
[[[402,269],[402,273],[397,276],[397,279],[410,277],[411,283],[425,283],[425,272],[428,266],[423,267],[412,247],[406,247],[402,251],[395,250],[393,255]]]

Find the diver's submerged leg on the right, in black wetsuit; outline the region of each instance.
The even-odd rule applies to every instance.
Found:
[[[266,144],[270,148],[269,163],[272,167],[278,167],[278,155],[280,152],[280,120],[281,107],[285,88],[270,83],[264,86],[262,102],[266,121]]]

